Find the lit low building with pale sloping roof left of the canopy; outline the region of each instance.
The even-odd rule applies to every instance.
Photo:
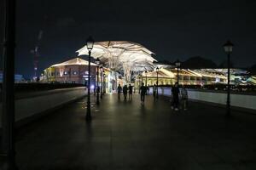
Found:
[[[79,83],[87,85],[89,79],[89,62],[80,59],[70,59],[60,64],[49,66],[40,77],[40,82],[55,83]],[[98,71],[98,74],[97,74]],[[97,77],[98,75],[98,77]],[[90,88],[98,85],[103,93],[109,92],[111,88],[110,70],[90,63]]]

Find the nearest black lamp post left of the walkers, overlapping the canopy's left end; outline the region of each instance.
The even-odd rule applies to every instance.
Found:
[[[89,59],[88,59],[88,73],[89,73],[89,77],[88,77],[88,83],[87,83],[87,113],[85,116],[85,119],[87,121],[91,120],[91,116],[90,116],[90,54],[91,54],[91,50],[93,48],[94,45],[94,40],[92,39],[92,37],[89,37],[86,41],[86,46],[88,49],[88,54],[89,54]]]

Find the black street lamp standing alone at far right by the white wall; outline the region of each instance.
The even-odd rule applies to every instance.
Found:
[[[228,89],[227,89],[227,112],[226,116],[230,116],[230,54],[232,53],[234,44],[230,41],[227,41],[224,44],[224,51],[228,55]]]

